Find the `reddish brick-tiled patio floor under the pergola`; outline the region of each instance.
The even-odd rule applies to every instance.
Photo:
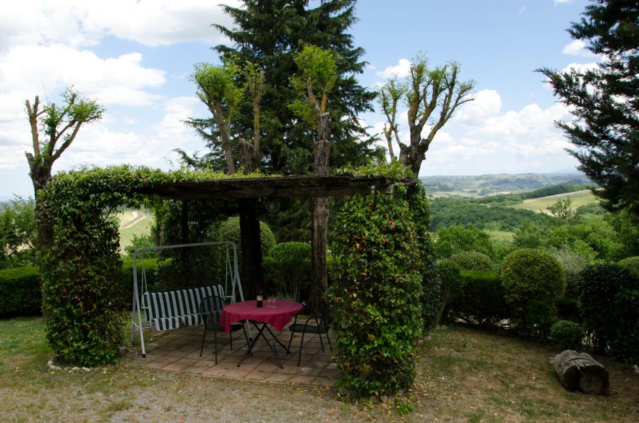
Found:
[[[257,333],[254,327],[251,330],[253,335]],[[215,365],[212,332],[207,332],[202,357],[199,355],[203,333],[203,326],[181,327],[166,332],[147,330],[144,333],[146,358],[142,358],[138,346],[127,354],[123,362],[202,376],[265,380],[299,385],[332,387],[335,385],[335,380],[339,378],[339,373],[331,360],[325,337],[322,337],[325,349],[322,351],[318,335],[304,335],[304,350],[299,367],[297,358],[301,335],[294,335],[291,354],[287,355],[286,351],[277,345],[277,353],[284,365],[284,369],[280,369],[273,353],[261,337],[253,349],[253,356],[247,357],[242,365],[237,367],[247,350],[242,331],[233,333],[233,351],[229,349],[229,336],[218,332],[217,365]],[[277,331],[273,330],[273,334],[277,335],[282,344],[288,345],[290,337],[288,329],[285,328],[282,334],[277,334]],[[266,332],[266,337],[270,338],[268,332]]]

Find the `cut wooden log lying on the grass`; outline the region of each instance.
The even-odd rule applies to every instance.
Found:
[[[585,394],[608,392],[608,371],[587,353],[566,350],[554,358],[553,367],[566,389],[581,390]]]

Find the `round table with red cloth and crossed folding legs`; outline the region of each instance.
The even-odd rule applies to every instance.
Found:
[[[269,305],[271,307],[269,307]],[[289,323],[289,321],[293,319],[293,316],[295,316],[295,314],[302,310],[302,307],[302,304],[282,300],[278,300],[273,304],[264,302],[264,306],[259,308],[256,300],[237,302],[224,307],[224,309],[222,309],[222,316],[220,316],[220,325],[224,327],[224,330],[226,332],[229,332],[229,330],[231,330],[231,325],[233,323],[242,320],[250,321],[258,330],[258,334],[256,335],[256,337],[254,337],[253,342],[251,342],[251,344],[249,345],[249,349],[244,354],[244,357],[242,357],[242,360],[240,360],[240,362],[238,363],[238,367],[240,367],[240,364],[242,364],[244,359],[250,354],[251,350],[261,336],[266,341],[266,344],[268,344],[268,346],[271,348],[271,351],[273,352],[273,355],[275,355],[275,358],[277,359],[280,367],[284,369],[284,366],[282,365],[282,362],[277,355],[277,350],[275,350],[275,345],[271,344],[271,342],[266,339],[264,331],[268,330],[273,339],[275,339],[275,341],[280,344],[284,348],[284,350],[286,350],[286,353],[289,353],[290,351],[288,351],[288,348],[286,348],[286,346],[282,344],[279,339],[277,339],[275,334],[273,334],[270,328],[268,328],[268,325],[271,325],[273,328],[275,328],[275,330],[277,330],[277,332],[281,333],[282,330],[284,330],[284,327]],[[256,323],[258,321],[263,323],[262,327],[258,326],[258,324]]]

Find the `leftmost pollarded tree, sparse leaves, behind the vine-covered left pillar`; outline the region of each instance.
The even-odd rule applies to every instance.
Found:
[[[38,192],[51,181],[53,164],[71,145],[84,123],[98,121],[104,114],[104,107],[95,100],[82,98],[73,87],[62,94],[63,104],[42,105],[36,96],[33,105],[26,100],[27,116],[31,125],[33,153],[25,151],[29,162],[29,176],[33,182],[36,200],[36,222],[38,222],[38,247],[46,249],[52,245],[53,232],[44,224],[42,210],[38,207]],[[42,105],[42,109],[40,106]],[[42,128],[42,134],[40,129]],[[40,135],[43,135],[42,137]]]

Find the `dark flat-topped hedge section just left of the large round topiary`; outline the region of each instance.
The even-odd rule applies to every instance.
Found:
[[[462,270],[463,292],[450,303],[452,316],[480,327],[493,327],[509,316],[498,273]]]

